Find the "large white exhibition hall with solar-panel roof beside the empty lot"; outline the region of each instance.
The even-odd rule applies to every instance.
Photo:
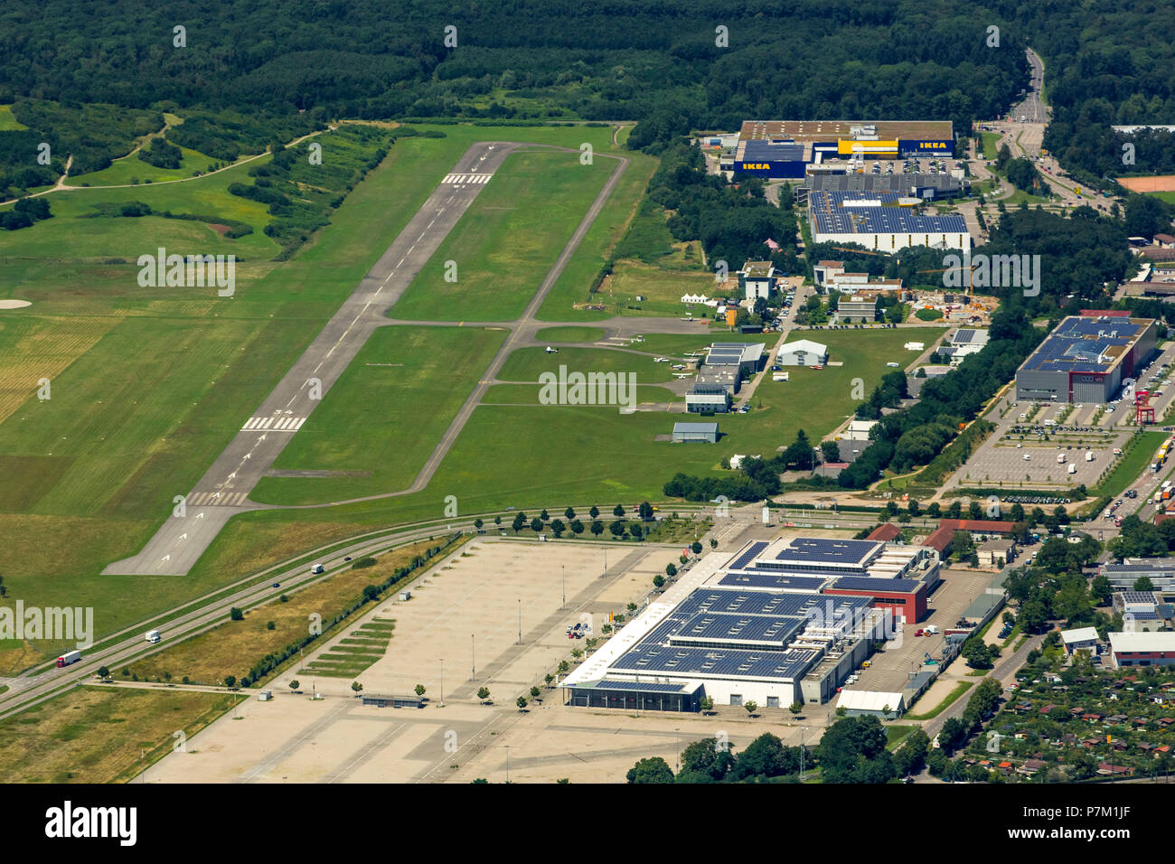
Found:
[[[752,541],[710,554],[559,686],[584,708],[824,703],[893,636],[897,601],[885,598],[925,595],[938,568],[921,547],[875,541]]]

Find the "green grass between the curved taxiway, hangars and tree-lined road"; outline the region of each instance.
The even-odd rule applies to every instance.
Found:
[[[820,440],[854,409],[855,379],[868,394],[888,371],[888,360],[907,359],[904,342],[931,341],[940,333],[941,328],[801,331],[803,337],[826,343],[831,360],[845,366],[792,369],[788,382],[768,377],[752,400],[756,410],[719,417],[724,436],[718,444],[656,441],[671,431],[678,415],[622,415],[607,406],[538,406],[537,386],[496,386],[423,491],[318,511],[246,514],[226,527],[189,578],[255,569],[270,562],[269,550],[282,543],[309,548],[364,529],[436,518],[454,489],[461,491],[463,514],[504,513],[506,507],[578,509],[592,503],[611,509],[618,501],[660,500],[663,484],[676,471],[726,476],[719,468],[723,456],[772,454],[791,443],[799,428]],[[651,339],[646,336],[646,342]],[[638,401],[660,401],[666,393],[656,386],[639,388]],[[497,455],[503,442],[510,447],[506,458]]]

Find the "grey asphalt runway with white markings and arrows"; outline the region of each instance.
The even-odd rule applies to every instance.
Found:
[[[492,174],[516,147],[475,143],[448,176]],[[187,574],[231,516],[256,509],[247,497],[257,481],[371,333],[387,323],[388,310],[485,186],[469,181],[437,186],[273,393],[242,417],[241,431],[184,496],[186,511],[168,517],[141,552],[114,562],[103,574]],[[313,394],[318,398],[311,398],[314,389],[321,390]]]

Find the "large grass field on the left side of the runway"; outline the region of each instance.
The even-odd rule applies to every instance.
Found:
[[[107,563],[142,547],[170,511],[172,497],[203,474],[470,143],[513,139],[578,147],[586,140],[597,152],[611,148],[607,128],[436,128],[445,138],[397,141],[333,213],[331,225],[282,263],[269,261],[277,247],[261,230],[266,208],[227,193],[229,182],[247,181],[251,166],[190,182],[52,193],[53,219],[0,233],[0,297],[33,303],[0,312],[0,536],[9,597],[93,605],[99,631],[109,632],[236,578],[256,560],[284,557],[310,534],[356,530],[349,518],[315,514],[310,534],[298,518],[248,529],[251,540],[241,547],[230,541],[228,558],[208,556],[213,563],[182,582],[99,576]],[[605,161],[598,159],[597,168]],[[600,168],[600,182],[605,175]],[[94,205],[136,200],[157,210],[239,219],[254,234],[230,241],[203,223],[157,216],[80,219]],[[162,237],[169,246],[243,259],[236,296],[137,286],[135,259],[153,252],[156,232],[173,229],[192,233]],[[484,366],[469,371],[477,375]],[[42,376],[52,380],[47,402],[35,397]],[[445,370],[445,380],[452,376]],[[361,377],[356,387],[371,393],[375,382]],[[459,398],[465,395],[468,388]],[[434,446],[424,438],[414,444],[425,454]],[[321,483],[335,480],[308,482],[298,495],[318,500],[327,488]],[[430,516],[439,513],[428,509]],[[229,558],[234,563],[224,565]]]

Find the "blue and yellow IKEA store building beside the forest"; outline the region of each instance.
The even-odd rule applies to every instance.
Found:
[[[734,149],[734,173],[801,179],[831,159],[949,156],[949,120],[747,120]]]

